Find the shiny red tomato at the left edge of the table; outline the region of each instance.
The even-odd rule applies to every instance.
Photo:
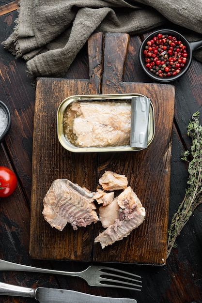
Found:
[[[17,178],[15,173],[5,166],[0,166],[0,197],[8,197],[15,191]]]

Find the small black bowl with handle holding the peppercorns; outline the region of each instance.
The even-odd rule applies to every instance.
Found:
[[[186,64],[185,67],[180,71],[180,73],[178,73],[175,76],[170,76],[170,77],[159,77],[156,76],[155,74],[153,74],[147,67],[146,67],[146,62],[145,62],[145,56],[144,56],[144,49],[145,46],[147,45],[147,41],[151,40],[154,36],[156,36],[158,33],[162,33],[163,35],[171,35],[177,38],[178,41],[182,41],[182,43],[184,45],[186,45],[186,52],[187,52],[187,58],[186,58]],[[200,48],[202,46],[202,40],[200,41],[195,41],[195,42],[188,42],[186,40],[186,38],[181,35],[179,32],[175,31],[175,30],[156,30],[154,32],[152,32],[150,35],[148,35],[144,41],[142,42],[141,46],[140,46],[140,51],[139,51],[139,59],[140,59],[140,65],[142,67],[142,69],[144,70],[144,72],[150,76],[151,78],[155,79],[156,81],[159,82],[171,82],[174,81],[176,79],[178,79],[179,77],[183,76],[187,69],[189,68],[189,65],[191,64],[191,60],[192,60],[192,52],[198,48]]]

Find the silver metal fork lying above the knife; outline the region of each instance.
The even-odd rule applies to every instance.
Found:
[[[0,271],[19,271],[32,273],[52,273],[68,276],[76,276],[84,279],[90,286],[102,286],[113,288],[125,288],[141,290],[141,277],[134,273],[127,273],[106,266],[91,265],[81,272],[66,272],[52,269],[32,267],[5,260],[0,260]]]

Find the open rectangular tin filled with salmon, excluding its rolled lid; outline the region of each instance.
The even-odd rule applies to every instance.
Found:
[[[132,93],[76,95],[64,99],[57,113],[60,143],[70,152],[142,150],[142,147],[130,146],[131,100],[139,96],[147,98]],[[152,102],[149,105],[146,127],[148,147],[155,135]]]

